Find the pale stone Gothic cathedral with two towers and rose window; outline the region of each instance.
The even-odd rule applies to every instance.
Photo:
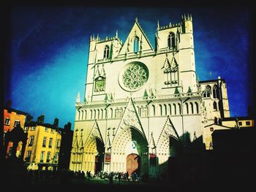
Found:
[[[76,115],[69,169],[157,177],[205,128],[230,116],[225,80],[199,81],[192,15],[159,26],[152,47],[138,19],[123,43],[90,37],[84,98]]]

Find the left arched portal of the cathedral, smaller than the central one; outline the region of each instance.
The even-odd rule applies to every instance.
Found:
[[[104,144],[98,137],[93,137],[86,143],[85,147],[85,171],[94,174],[103,170]]]

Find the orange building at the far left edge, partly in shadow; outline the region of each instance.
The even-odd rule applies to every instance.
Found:
[[[4,107],[4,132],[3,132],[3,141],[5,134],[7,134],[7,131],[12,131],[15,126],[17,126],[20,123],[21,128],[24,130],[24,125],[26,122],[26,117],[29,114],[26,112],[22,112],[20,110],[15,110],[11,108],[11,101],[7,102],[7,107]],[[10,156],[12,154],[12,142],[8,143],[7,150],[6,150],[6,157]],[[3,145],[5,145],[3,143]],[[16,156],[20,156],[20,152],[22,149],[22,143],[20,142],[17,147],[17,153]]]

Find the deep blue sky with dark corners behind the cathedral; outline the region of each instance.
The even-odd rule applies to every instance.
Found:
[[[252,13],[246,7],[12,7],[4,99],[45,123],[74,124],[75,99],[84,95],[89,37],[125,41],[138,18],[154,47],[160,26],[192,14],[200,80],[225,78],[231,116],[246,116]],[[211,74],[210,74],[211,72]]]

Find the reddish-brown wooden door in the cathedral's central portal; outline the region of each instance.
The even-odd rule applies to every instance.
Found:
[[[131,153],[127,155],[127,172],[132,176],[134,172],[140,175],[140,155]]]

